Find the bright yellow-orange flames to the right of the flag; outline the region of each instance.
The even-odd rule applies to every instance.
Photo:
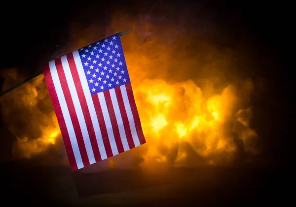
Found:
[[[180,94],[180,90],[183,94]],[[148,151],[144,154],[146,161],[168,162],[170,151],[174,150],[176,143],[179,147],[174,162],[179,165],[191,159],[188,149],[182,147],[184,143],[189,143],[199,156],[208,158],[205,161],[207,164],[215,163],[211,157],[216,154],[231,156],[237,152],[233,135],[225,133],[227,126],[224,125],[242,121],[241,118],[232,118],[238,104],[234,86],[228,85],[221,94],[207,99],[192,80],[168,83],[146,79],[134,87],[134,93],[137,104],[143,106],[138,110],[148,139]],[[229,130],[235,133],[234,129]],[[255,132],[247,126],[245,130],[239,132],[238,136],[246,144],[245,133]]]

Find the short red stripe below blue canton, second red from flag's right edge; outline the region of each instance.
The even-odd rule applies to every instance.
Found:
[[[132,148],[135,147],[135,143],[134,143],[134,140],[133,140],[133,137],[132,137],[131,128],[129,126],[129,121],[128,121],[128,117],[127,117],[126,110],[125,110],[125,107],[124,107],[120,87],[115,87],[114,90],[115,90],[116,99],[117,99],[117,102],[118,102],[118,106],[119,106],[119,110],[120,110],[120,114],[121,114],[121,118],[122,118],[122,122],[123,122],[125,135],[126,135],[126,138],[127,138],[128,146],[129,146],[130,149],[132,149]]]

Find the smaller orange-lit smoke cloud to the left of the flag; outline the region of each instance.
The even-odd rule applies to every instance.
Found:
[[[4,69],[3,89],[24,79],[17,69]],[[15,136],[15,157],[31,158],[59,142],[60,131],[43,75],[1,97],[1,114]]]

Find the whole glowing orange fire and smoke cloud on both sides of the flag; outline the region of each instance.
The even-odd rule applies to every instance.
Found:
[[[175,34],[176,30],[153,26],[141,18],[137,21],[119,19],[114,19],[107,31],[108,35],[127,28],[135,31],[121,39],[147,140],[145,145],[127,153],[134,158],[142,157],[142,167],[151,167],[157,163],[176,166],[225,164],[240,152],[250,155],[260,152],[260,138],[249,126],[253,82],[241,78],[230,81],[220,72],[227,71],[221,63],[231,61],[231,57],[200,41],[206,50],[198,53],[199,47],[196,47],[195,52],[199,55],[190,59],[195,53],[187,51],[183,45],[195,40],[183,36],[183,40],[178,41],[180,34]],[[73,30],[71,34],[80,34],[75,28]],[[90,27],[85,34],[99,34],[97,30]],[[168,36],[175,43],[170,45],[157,35],[149,37],[147,30],[149,34]],[[73,36],[69,52],[98,38],[85,40]],[[209,64],[203,65],[202,59]],[[16,70],[6,73],[4,87],[8,87],[11,80],[16,81],[16,74]],[[3,97],[1,109],[9,130],[16,137],[13,150],[22,157],[37,155],[60,142],[58,123],[43,76]],[[15,112],[19,113],[18,117],[11,115]],[[26,126],[24,132],[17,127],[19,121]],[[116,167],[116,157],[124,154],[112,158],[110,168]]]

